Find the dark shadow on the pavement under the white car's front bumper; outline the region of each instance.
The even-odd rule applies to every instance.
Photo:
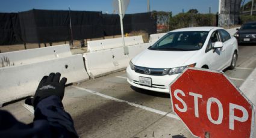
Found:
[[[141,94],[146,94],[146,95],[150,95],[150,96],[154,96],[154,97],[161,97],[161,98],[170,98],[170,94],[166,94],[163,92],[149,91],[146,89],[136,88],[134,86],[131,86],[131,89],[133,89],[134,91],[139,92]]]

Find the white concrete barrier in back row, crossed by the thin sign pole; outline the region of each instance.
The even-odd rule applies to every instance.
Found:
[[[132,46],[132,45],[142,44],[142,43],[143,43],[142,35],[125,37],[125,46]],[[122,38],[95,40],[95,41],[87,42],[88,52],[95,52],[95,51],[105,50],[105,49],[113,49],[117,47],[122,47]]]

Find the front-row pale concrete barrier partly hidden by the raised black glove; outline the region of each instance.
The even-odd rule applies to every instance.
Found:
[[[43,76],[60,72],[67,83],[88,80],[82,55],[71,55],[33,64],[0,68],[0,106],[33,95]]]

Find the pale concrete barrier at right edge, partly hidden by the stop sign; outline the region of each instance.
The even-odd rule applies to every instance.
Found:
[[[252,73],[246,78],[245,82],[240,86],[240,90],[245,94],[247,98],[256,105],[256,68]],[[256,116],[254,116],[254,135],[256,137]]]

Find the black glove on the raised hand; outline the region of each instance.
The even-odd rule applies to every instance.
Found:
[[[25,104],[34,106],[34,108],[36,108],[39,101],[52,95],[56,95],[60,98],[60,100],[62,100],[67,78],[63,77],[60,80],[60,76],[60,73],[50,73],[49,76],[44,76],[37,87],[34,97],[27,98],[25,100]]]

